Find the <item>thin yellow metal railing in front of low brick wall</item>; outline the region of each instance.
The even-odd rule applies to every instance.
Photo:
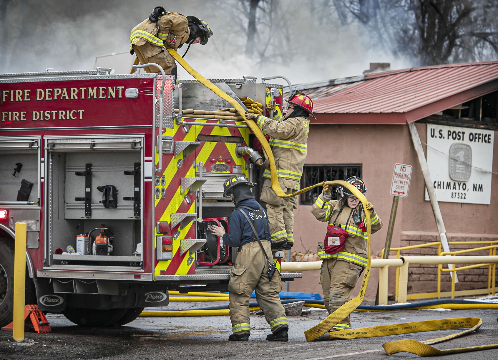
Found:
[[[489,249],[489,251],[490,251],[489,255],[496,255],[495,248],[498,246],[495,246],[495,248],[494,248],[493,244],[498,244],[498,240],[495,240],[495,241],[448,241],[448,245],[459,245],[459,244],[465,244],[465,245],[489,244],[489,246],[481,247],[481,248],[459,250],[459,251],[453,251],[453,252],[441,252],[441,242],[434,241],[434,242],[425,243],[425,244],[417,244],[417,245],[402,246],[402,247],[397,247],[397,248],[389,248],[389,251],[390,252],[395,251],[396,252],[396,259],[399,259],[401,256],[401,251],[403,251],[403,250],[427,248],[427,247],[432,247],[432,246],[437,245],[437,247],[438,247],[437,253],[440,256],[471,253],[471,252],[482,251],[482,250],[487,250],[487,249]],[[383,252],[384,252],[384,249],[382,248],[381,253],[383,253]],[[456,270],[442,269],[442,265],[440,264],[440,265],[438,265],[438,273],[437,273],[437,291],[436,292],[426,292],[426,293],[417,293],[417,294],[407,295],[408,299],[411,300],[411,299],[421,299],[421,298],[429,298],[429,297],[437,297],[438,299],[441,298],[441,271],[453,272],[453,276],[451,279],[451,282],[452,282],[451,298],[453,299],[455,297],[455,273],[456,273],[456,271],[474,269],[474,268],[479,268],[482,266],[488,266],[488,288],[487,288],[488,295],[490,295],[492,292],[495,293],[496,264],[476,264],[476,265],[472,265],[469,267],[460,267]],[[493,274],[492,274],[492,271],[493,271]],[[491,274],[492,274],[492,276],[490,276]],[[492,278],[493,278],[493,280],[492,280]],[[477,294],[485,294],[486,292],[483,290],[484,289],[462,290],[462,291],[458,291],[458,292],[460,295],[477,295]],[[398,295],[399,295],[399,268],[396,268],[396,282],[395,282],[394,294],[395,294],[395,299],[397,301]]]

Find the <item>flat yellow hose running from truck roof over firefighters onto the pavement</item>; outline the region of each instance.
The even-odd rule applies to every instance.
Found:
[[[173,49],[168,49],[169,53],[173,58],[197,81],[202,83],[209,90],[216,93],[222,99],[228,101],[230,104],[234,106],[234,108],[239,112],[242,117],[245,117],[244,108],[230,95],[220,90],[217,86],[195,71],[187,62]],[[278,183],[278,177],[276,173],[275,160],[273,158],[273,154],[271,153],[271,149],[268,145],[268,142],[264,138],[259,127],[252,120],[246,120],[247,125],[250,130],[256,136],[256,138],[261,143],[261,146],[264,150],[265,157],[268,159],[270,173],[271,173],[271,188],[275,191],[276,195],[279,197],[291,197],[297,196],[303,192],[306,192],[313,187],[322,186],[324,184],[330,185],[343,185],[348,190],[352,191],[356,197],[360,199],[364,208],[367,208],[367,199],[366,197],[353,185],[347,183],[346,181],[324,181],[322,183],[318,183],[312,186],[305,187],[299,191],[294,192],[293,194],[286,194]],[[367,233],[368,233],[368,254],[370,254],[370,212],[365,211],[366,216],[366,224],[367,224]],[[335,310],[332,314],[327,316],[324,320],[322,320],[319,324],[315,325],[311,329],[308,329],[304,332],[306,336],[306,341],[314,341],[320,336],[328,333],[333,326],[337,325],[341,322],[346,316],[351,314],[355,309],[362,303],[363,298],[365,296],[365,290],[367,288],[367,284],[370,277],[370,256],[367,258],[367,267],[365,268],[365,272],[363,275],[363,281],[360,288],[360,293],[347,303],[341,305],[337,310]],[[204,311],[204,310],[201,310]],[[217,310],[218,311],[218,310]],[[470,320],[461,320],[461,319],[470,319]],[[459,324],[460,321],[463,321],[462,324]],[[459,319],[442,319],[442,320],[430,320],[430,321],[417,321],[413,323],[404,323],[404,324],[396,324],[396,325],[385,325],[384,327],[376,326],[373,328],[363,328],[363,329],[353,329],[353,330],[340,330],[329,334],[330,339],[357,339],[362,337],[377,337],[377,336],[387,336],[387,335],[398,335],[405,334],[404,330],[415,330],[410,332],[419,332],[419,331],[433,331],[433,330],[441,330],[441,329],[454,329],[454,328],[470,328],[468,330],[455,333],[443,338],[426,340],[424,342],[418,342],[415,340],[398,340],[389,343],[383,344],[383,348],[385,352],[389,354],[394,354],[398,352],[408,352],[418,356],[436,356],[436,355],[444,355],[444,354],[455,354],[455,353],[465,353],[469,351],[475,350],[485,350],[485,349],[494,349],[498,348],[498,344],[494,345],[480,345],[469,348],[459,348],[459,349],[449,349],[449,350],[437,350],[428,344],[436,344],[446,340],[450,340],[473,331],[479,329],[482,324],[482,320],[478,318],[459,318]],[[446,327],[448,325],[448,327]],[[451,326],[450,326],[451,325]],[[458,326],[453,326],[458,325]],[[405,329],[409,328],[409,329]],[[409,333],[409,332],[408,332]]]

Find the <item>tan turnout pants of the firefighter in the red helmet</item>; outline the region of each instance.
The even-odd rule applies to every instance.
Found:
[[[287,188],[279,179],[280,187],[286,194],[294,193],[295,189]],[[278,197],[271,188],[271,181],[265,179],[261,190],[261,201],[266,202],[266,213],[270,224],[270,235],[273,243],[294,241],[294,209],[297,207],[297,197]]]

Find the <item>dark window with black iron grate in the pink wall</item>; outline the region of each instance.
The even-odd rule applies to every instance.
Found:
[[[301,186],[305,187],[314,185],[322,181],[346,180],[349,177],[362,177],[361,164],[347,165],[305,165],[303,168],[303,176],[301,177]],[[337,186],[332,189],[332,199],[339,200],[339,193],[336,191]],[[301,205],[313,205],[322,193],[323,186],[317,186],[300,195],[299,203]]]

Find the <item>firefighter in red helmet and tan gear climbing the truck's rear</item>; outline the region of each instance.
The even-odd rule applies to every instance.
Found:
[[[310,128],[309,115],[313,115],[311,98],[295,90],[286,100],[287,116],[280,121],[263,115],[247,113],[265,134],[275,159],[278,182],[282,190],[291,194],[299,189],[299,180],[306,160],[306,141]],[[290,249],[294,245],[294,209],[297,207],[295,196],[281,198],[271,188],[270,170],[263,173],[263,188],[260,200],[266,203],[273,249]]]

